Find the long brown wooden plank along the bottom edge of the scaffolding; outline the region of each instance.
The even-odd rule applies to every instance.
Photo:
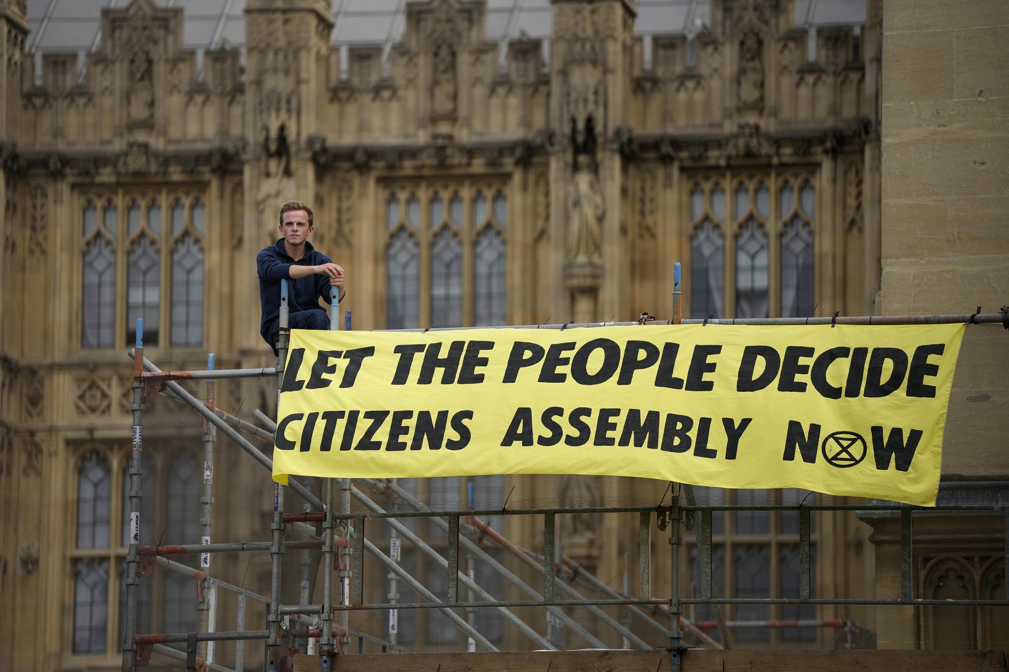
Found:
[[[683,654],[682,672],[991,672],[1005,671],[996,651],[699,651]],[[669,672],[662,651],[509,651],[337,656],[333,672]],[[295,672],[320,672],[318,656],[295,658]]]

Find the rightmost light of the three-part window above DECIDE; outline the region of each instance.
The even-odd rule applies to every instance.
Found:
[[[793,181],[781,189],[781,316],[809,317],[813,313],[813,188],[806,181],[798,204]]]

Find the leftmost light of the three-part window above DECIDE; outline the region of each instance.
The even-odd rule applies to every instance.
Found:
[[[725,194],[718,184],[694,186],[690,193],[690,314],[724,317]]]

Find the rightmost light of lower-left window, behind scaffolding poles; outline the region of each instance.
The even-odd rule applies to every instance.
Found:
[[[179,451],[169,462],[165,479],[164,540],[167,544],[200,543],[200,494],[202,470],[198,460]],[[197,556],[185,556],[195,563]],[[164,572],[162,604],[164,632],[196,630],[196,587],[193,579],[179,572]]]

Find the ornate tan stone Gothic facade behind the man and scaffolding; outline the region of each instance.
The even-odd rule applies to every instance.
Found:
[[[399,27],[371,42],[339,39],[350,0],[227,2],[218,23],[133,0],[96,4],[86,48],[61,49],[52,33],[40,47],[37,35],[73,25],[61,12],[85,12],[69,4],[0,0],[2,670],[118,666],[130,325],[145,318],[147,356],[165,368],[202,368],[209,351],[219,367],[270,365],[254,257],[288,200],[312,205],[313,242],[348,269],[357,329],[661,318],[676,260],[687,315],[875,311],[879,0],[827,18],[803,0],[527,2],[549,26],[536,35],[501,3],[424,0],[400,3]],[[201,21],[216,30],[194,46]],[[219,404],[270,413],[270,397],[249,382]],[[199,445],[199,426],[182,435]],[[172,483],[193,465],[156,444],[152,460],[151,518],[173,530]],[[249,467],[237,456],[216,468]],[[464,480],[419,493],[459,502]],[[243,483],[216,486],[233,502],[216,524],[264,538],[267,477]],[[578,503],[665,488],[485,485],[488,501],[517,485]],[[871,595],[866,526],[817,525],[817,594]],[[531,526],[508,532],[535,547]],[[603,577],[637,544],[615,520],[571,527],[568,553]],[[788,590],[792,527],[726,522],[724,589]],[[655,586],[664,594],[658,572]],[[173,595],[157,588],[155,610]],[[84,606],[104,608],[105,625]],[[851,615],[786,611],[739,617]],[[416,646],[465,646],[417,619]],[[528,645],[496,627],[502,646]],[[832,646],[777,631],[753,644],[791,641]]]

